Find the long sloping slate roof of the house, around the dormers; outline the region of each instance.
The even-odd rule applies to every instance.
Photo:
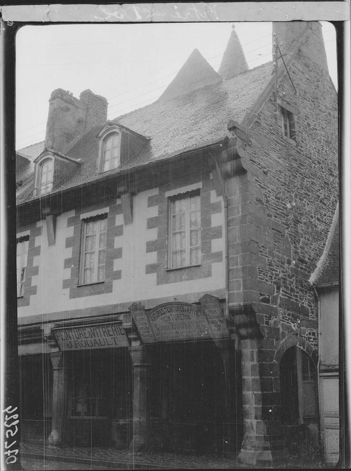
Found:
[[[199,60],[197,53],[195,58]],[[99,140],[96,137],[103,126],[91,128],[65,151],[68,157],[81,159],[82,165],[53,188],[52,193],[220,142],[227,135],[229,119],[239,123],[244,120],[265,89],[271,72],[272,63],[268,62],[225,81],[216,74],[220,80],[218,83],[169,99],[160,97],[150,105],[115,118],[113,122],[151,139],[144,151],[129,164],[104,174],[97,170]],[[32,184],[22,192],[17,191],[17,204],[38,197],[33,196]]]

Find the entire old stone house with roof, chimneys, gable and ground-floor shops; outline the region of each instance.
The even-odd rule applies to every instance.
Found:
[[[195,50],[112,121],[90,90],[52,93],[42,152],[18,153],[27,433],[252,465],[318,449],[337,97],[320,24],[273,33],[273,62],[249,70],[233,31],[218,73]]]

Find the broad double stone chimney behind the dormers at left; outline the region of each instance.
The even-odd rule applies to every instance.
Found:
[[[91,90],[84,90],[80,98],[63,89],[51,93],[45,147],[64,154],[71,142],[81,137],[90,126],[106,122],[106,98]]]

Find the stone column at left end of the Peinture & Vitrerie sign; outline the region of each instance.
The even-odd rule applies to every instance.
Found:
[[[52,391],[52,424],[48,444],[59,446],[62,443],[62,426],[65,417],[65,371],[62,352],[51,352],[50,358],[54,368]]]

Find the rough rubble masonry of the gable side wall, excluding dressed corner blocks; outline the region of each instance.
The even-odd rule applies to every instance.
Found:
[[[308,279],[323,252],[338,199],[336,94],[327,71],[303,53],[290,73],[297,95],[286,75],[278,97],[296,110],[296,140],[282,138],[279,107],[276,114],[271,99],[254,120],[252,144],[245,149],[261,169],[253,181],[255,203],[268,218],[267,229],[262,226],[267,244],[259,248],[268,269],[261,268],[259,279],[275,286],[275,298],[263,302],[277,305],[285,324],[281,329],[299,328],[316,346],[317,336],[301,332],[301,322],[316,318]]]

